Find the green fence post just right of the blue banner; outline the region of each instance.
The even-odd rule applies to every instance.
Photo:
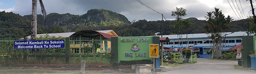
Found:
[[[70,57],[70,38],[66,37],[66,46],[65,46],[65,51],[66,51],[66,63],[69,64],[69,57]]]

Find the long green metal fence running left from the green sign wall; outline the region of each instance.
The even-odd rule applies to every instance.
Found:
[[[2,58],[3,60],[3,58],[5,58],[4,63],[9,63],[13,61],[16,61],[16,63],[27,63],[27,58],[30,58],[30,60],[28,59],[29,61],[33,61],[38,64],[52,61],[50,59],[42,60],[44,59],[43,57],[54,57],[57,59],[62,58],[59,61],[66,60],[66,63],[69,63],[69,61],[73,61],[72,57],[111,57],[111,53],[109,53],[109,48],[111,47],[111,40],[108,38],[80,37],[68,38],[69,40],[66,40],[66,38],[61,37],[41,37],[37,40],[65,40],[65,48],[14,49],[14,41],[18,41],[20,39],[21,38],[0,38],[0,59]],[[24,40],[28,40],[28,38],[25,38]],[[8,60],[10,58],[12,60]],[[22,60],[23,62],[20,62]],[[35,60],[40,60],[40,62],[36,62]],[[74,64],[80,62],[78,61],[72,63]],[[3,61],[0,61],[0,63],[3,63]]]

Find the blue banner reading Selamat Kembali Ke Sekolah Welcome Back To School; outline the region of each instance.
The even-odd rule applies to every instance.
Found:
[[[65,40],[21,40],[14,41],[14,49],[64,48]]]

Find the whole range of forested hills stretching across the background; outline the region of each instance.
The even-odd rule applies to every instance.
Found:
[[[124,15],[105,9],[91,9],[83,15],[50,13],[46,19],[43,19],[41,14],[38,14],[37,17],[38,34],[73,32],[84,29],[113,30],[121,37],[153,36],[154,33],[161,32],[162,29],[163,35],[177,34],[175,28],[170,27],[174,24],[174,20],[137,20],[131,23]],[[195,23],[195,28],[189,29],[188,34],[206,33],[203,28],[207,24],[206,20],[198,20],[194,17],[188,19]],[[248,22],[250,22],[249,19],[232,21],[226,31],[246,31]],[[30,35],[30,31],[31,15],[22,17],[13,12],[0,12],[0,38],[26,37]],[[182,29],[181,34],[186,34],[186,30]]]

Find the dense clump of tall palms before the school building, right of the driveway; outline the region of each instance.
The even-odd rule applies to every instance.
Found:
[[[204,26],[204,30],[207,31],[207,33],[210,35],[210,38],[224,35],[225,30],[228,28],[228,24],[230,24],[230,22],[233,20],[229,15],[225,17],[218,8],[215,8],[215,11],[207,12],[206,19],[208,19],[208,24]],[[222,37],[212,40],[211,51],[214,58],[221,57],[223,41],[225,41],[225,39]]]

